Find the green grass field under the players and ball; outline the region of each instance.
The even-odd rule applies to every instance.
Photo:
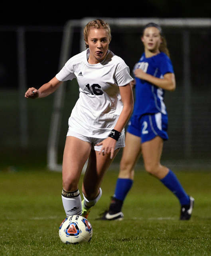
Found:
[[[117,174],[117,170],[107,172],[103,196],[89,214],[91,242],[67,245],[58,235],[65,218],[61,173],[27,169],[0,172],[0,255],[211,255],[210,172],[176,172],[195,198],[189,221],[179,221],[177,198],[144,171],[136,172],[124,203],[124,220],[96,220],[110,202]]]

